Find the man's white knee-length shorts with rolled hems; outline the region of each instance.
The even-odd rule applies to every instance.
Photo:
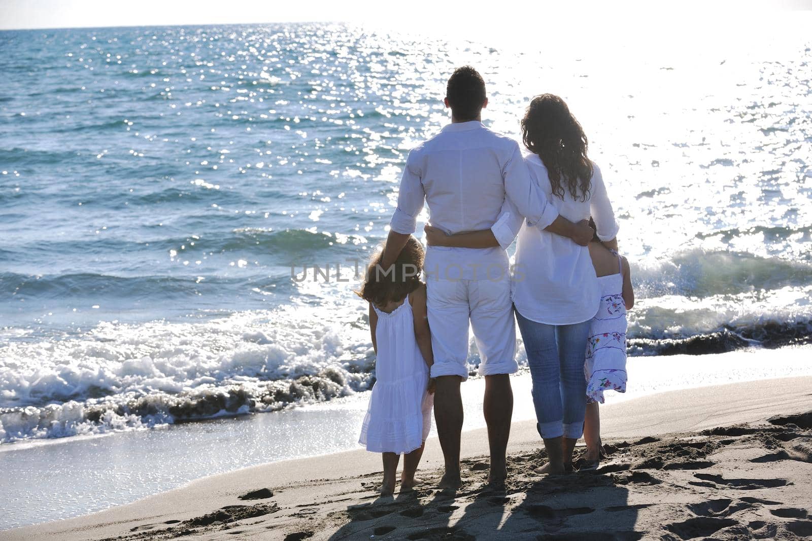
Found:
[[[510,277],[491,280],[426,281],[431,346],[431,376],[468,379],[469,320],[481,362],[479,374],[512,374],[519,369]]]

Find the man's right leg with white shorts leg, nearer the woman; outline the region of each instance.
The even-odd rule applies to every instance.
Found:
[[[485,376],[483,410],[490,444],[488,482],[500,486],[507,476],[506,453],[513,414],[509,374],[518,370],[508,273],[498,281],[470,281],[469,303],[473,336],[482,358],[479,373]]]

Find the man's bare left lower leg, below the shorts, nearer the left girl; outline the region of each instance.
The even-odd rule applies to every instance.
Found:
[[[446,472],[440,480],[440,488],[460,487],[460,436],[462,432],[462,397],[460,376],[439,376],[434,391],[434,421],[437,436],[443,448]]]

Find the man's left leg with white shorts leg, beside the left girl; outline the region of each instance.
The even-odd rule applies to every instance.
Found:
[[[446,472],[441,488],[460,487],[460,432],[463,410],[460,383],[468,378],[469,307],[461,281],[426,281],[426,308],[431,328],[435,379],[434,421],[443,448]]]

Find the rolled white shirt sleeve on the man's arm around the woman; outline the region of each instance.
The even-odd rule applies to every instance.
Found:
[[[503,167],[505,192],[521,216],[527,218],[528,225],[544,229],[558,217],[558,210],[550,204],[530,176],[530,171],[521,156],[519,145],[515,144],[512,156]]]

